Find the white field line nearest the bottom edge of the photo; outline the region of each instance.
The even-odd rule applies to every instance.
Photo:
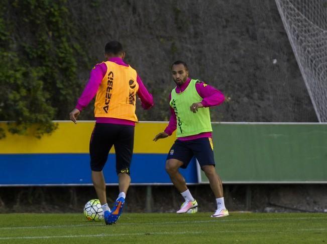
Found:
[[[302,232],[302,231],[326,231],[327,228],[310,228],[310,229],[294,229],[294,230],[277,230],[277,232]],[[111,236],[133,236],[133,235],[166,235],[166,234],[209,234],[209,233],[259,233],[274,232],[276,230],[221,230],[221,231],[183,231],[183,232],[144,232],[144,233],[122,233],[122,234],[80,234],[80,235],[53,235],[53,236],[20,236],[20,237],[0,237],[0,240],[10,239],[50,239],[50,238],[78,238],[78,237],[111,237]]]

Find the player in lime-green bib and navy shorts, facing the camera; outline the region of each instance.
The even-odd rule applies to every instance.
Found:
[[[212,128],[209,107],[225,101],[219,90],[188,78],[187,65],[176,61],[171,67],[176,87],[169,97],[171,116],[169,124],[154,137],[154,141],[165,138],[176,131],[177,139],[172,145],[166,161],[166,171],[177,190],[185,199],[177,213],[186,213],[197,207],[197,202],[186,186],[184,177],[178,171],[186,168],[193,156],[209,179],[211,190],[216,198],[217,209],[211,217],[228,216],[225,207],[223,185],[215,171],[213,158]]]

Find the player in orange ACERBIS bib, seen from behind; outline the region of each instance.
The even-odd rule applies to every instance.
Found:
[[[104,211],[106,224],[116,223],[120,217],[127,190],[131,183],[130,164],[134,146],[134,127],[138,121],[136,94],[141,106],[153,106],[152,95],[145,88],[137,72],[123,59],[125,52],[117,41],[108,42],[104,48],[107,61],[97,64],[90,79],[69,117],[74,123],[96,95],[94,103],[95,126],[90,139],[90,166],[93,185]],[[116,172],[119,180],[119,195],[111,210],[105,192],[103,166],[110,149],[115,146]]]

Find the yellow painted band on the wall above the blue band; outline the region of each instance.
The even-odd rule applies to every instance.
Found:
[[[51,135],[41,139],[30,135],[13,135],[7,132],[0,139],[0,154],[4,153],[88,153],[89,139],[94,127],[94,121],[59,121],[58,129]],[[164,131],[168,122],[140,122],[135,127],[135,153],[168,153],[176,139],[176,134],[160,139],[152,139]],[[0,127],[7,130],[6,122],[0,122]],[[32,128],[33,129],[33,128]],[[32,130],[31,129],[31,130]],[[30,130],[30,131],[31,131]],[[112,151],[114,152],[114,148]]]

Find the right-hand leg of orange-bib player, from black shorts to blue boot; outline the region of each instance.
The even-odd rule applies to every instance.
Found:
[[[114,203],[110,216],[106,220],[109,224],[116,223],[122,214],[125,206],[125,197],[131,183],[130,165],[134,147],[134,126],[120,125],[117,131],[119,131],[119,137],[114,143],[114,146],[120,193]]]

